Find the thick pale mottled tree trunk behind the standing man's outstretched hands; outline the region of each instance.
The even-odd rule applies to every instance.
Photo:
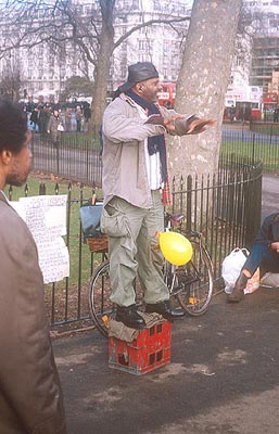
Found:
[[[228,87],[241,0],[195,0],[177,81],[175,110],[212,118],[216,125],[168,144],[170,177],[214,174],[218,166],[225,93]]]

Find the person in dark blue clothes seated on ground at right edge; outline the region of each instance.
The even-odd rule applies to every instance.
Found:
[[[231,294],[229,303],[238,303],[244,297],[248,280],[259,267],[259,276],[267,271],[279,272],[279,213],[267,216],[251,247],[240,276]]]

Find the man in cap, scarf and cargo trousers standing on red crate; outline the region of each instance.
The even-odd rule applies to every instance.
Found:
[[[169,193],[165,133],[199,133],[213,123],[158,107],[161,90],[152,63],[130,65],[127,81],[103,116],[101,228],[109,235],[111,301],[117,306],[116,320],[135,329],[145,326],[135,304],[137,272],[147,312],[170,320],[185,315],[169,304],[162,272],[164,258],[154,248],[156,233],[164,230],[162,197],[167,202]]]

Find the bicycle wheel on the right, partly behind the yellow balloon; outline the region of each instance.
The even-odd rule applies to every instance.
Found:
[[[176,294],[180,306],[190,315],[204,314],[212,299],[213,271],[206,250],[192,241],[192,259],[175,271],[179,291]]]

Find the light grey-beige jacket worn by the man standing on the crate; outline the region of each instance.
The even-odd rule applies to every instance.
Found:
[[[163,116],[174,114],[160,107]],[[174,133],[188,130],[186,119],[176,120]],[[135,206],[150,208],[151,192],[145,167],[144,140],[166,132],[162,125],[147,124],[140,117],[135,102],[122,93],[105,110],[103,116],[103,175],[104,204],[114,195]]]

